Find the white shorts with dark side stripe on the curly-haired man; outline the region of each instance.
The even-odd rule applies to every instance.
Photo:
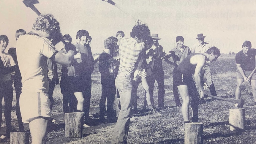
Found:
[[[20,113],[23,123],[37,118],[50,120],[50,99],[47,93],[22,90],[20,94]]]

